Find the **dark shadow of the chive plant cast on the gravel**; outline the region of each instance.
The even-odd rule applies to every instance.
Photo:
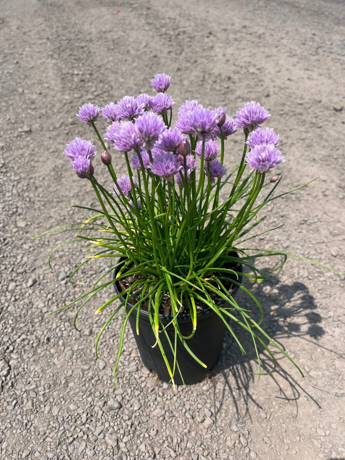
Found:
[[[246,287],[248,288],[247,285]],[[283,284],[280,282],[279,276],[271,275],[267,281],[256,283],[249,288],[259,300],[265,312],[265,318],[261,324],[262,329],[275,340],[284,351],[286,351],[286,349],[281,341],[284,340],[284,344],[287,345],[286,339],[292,337],[297,337],[322,347],[322,345],[316,343],[316,340],[320,339],[325,334],[321,326],[322,317],[315,311],[317,305],[305,284],[300,282],[293,282],[291,285]],[[252,299],[243,291],[237,293],[236,301],[239,305],[253,312],[255,308],[257,308]],[[259,315],[255,316],[254,320],[258,321]],[[230,392],[237,416],[242,417],[244,414],[249,414],[250,416],[249,403],[253,403],[257,408],[262,409],[260,403],[254,399],[252,394],[253,385],[259,378],[258,375],[253,374],[258,372],[257,356],[250,334],[244,331],[241,326],[236,324],[235,326],[231,324],[231,326],[240,339],[246,354],[244,355],[241,353],[230,333],[225,334],[224,346],[219,363],[213,371],[211,371],[210,377],[219,373],[224,377],[222,397],[220,400],[219,397],[217,397],[219,407],[221,407],[225,399],[229,402],[228,393]],[[262,334],[260,337],[265,339],[266,345],[269,344],[268,339]],[[265,348],[259,343],[257,346],[261,359],[261,372],[270,372],[273,369],[273,362],[265,351]],[[277,396],[277,398],[293,401],[296,408],[295,416],[298,415],[298,400],[301,396],[311,399],[317,407],[321,408],[316,398],[304,388],[304,379],[300,376],[298,370],[293,367],[293,364],[289,362],[281,352],[276,350],[273,345],[270,345],[270,350],[274,352],[277,362],[275,372],[270,374],[268,378],[274,381],[279,391],[279,396]],[[275,350],[277,352],[275,352]],[[332,350],[328,351],[335,353]],[[289,350],[288,354],[290,354],[290,356],[292,354],[292,357],[294,357],[293,351]],[[282,365],[280,365],[281,361],[283,361]],[[293,375],[296,376],[296,378],[294,378]],[[215,390],[216,388],[214,386],[214,402],[216,402]],[[241,403],[244,401],[244,408],[239,407],[240,401]]]

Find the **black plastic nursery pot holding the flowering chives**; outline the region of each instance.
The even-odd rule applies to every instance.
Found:
[[[231,256],[238,257],[236,252],[230,253]],[[240,259],[240,258],[239,258]],[[120,259],[121,260],[121,259]],[[124,261],[126,259],[123,259]],[[114,272],[114,278],[117,275],[118,270],[121,266],[116,267]],[[242,273],[242,265],[240,262],[237,263],[236,271]],[[231,280],[231,276],[229,276]],[[236,279],[235,277],[232,279]],[[238,282],[241,282],[242,276],[239,276]],[[118,284],[114,283],[116,293],[121,293]],[[235,284],[230,285],[229,292],[231,296],[234,296],[238,286]],[[124,297],[120,298],[121,301],[125,301]],[[223,308],[229,306],[225,301],[219,301],[216,305],[222,306]],[[132,308],[131,304],[127,304],[127,312]],[[138,350],[141,356],[141,359],[150,371],[154,371],[160,380],[164,382],[169,382],[171,380],[169,372],[167,370],[166,363],[161,355],[161,351],[156,345],[152,348],[152,345],[155,344],[155,334],[152,330],[150,323],[149,313],[144,310],[139,312],[139,334],[136,332],[136,321],[137,321],[137,312],[138,309],[135,308],[132,311],[132,314],[129,316],[129,323],[131,325],[135,340],[137,342]],[[172,316],[163,316],[160,315],[160,319],[164,326],[169,324],[173,317]],[[181,334],[188,336],[193,330],[192,320],[190,314],[183,314],[178,316],[178,326],[180,328]],[[175,329],[173,324],[170,324],[167,327],[167,334],[172,344],[175,341]],[[186,385],[192,385],[200,380],[204,379],[207,373],[217,364],[220,357],[220,352],[222,349],[224,334],[226,326],[223,320],[215,313],[211,308],[205,310],[199,310],[197,312],[197,322],[196,322],[196,332],[192,338],[186,340],[186,343],[190,347],[190,350],[207,366],[204,368],[199,364],[190,353],[184,348],[183,343],[180,339],[177,339],[177,361],[181,371],[181,374],[184,378],[184,383]],[[166,354],[167,360],[171,369],[173,369],[173,352],[167,340],[165,334],[160,334],[161,344],[163,346],[164,352]],[[182,385],[183,381],[177,370],[175,369],[174,382],[176,385]]]

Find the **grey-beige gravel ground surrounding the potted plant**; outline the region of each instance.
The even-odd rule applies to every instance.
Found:
[[[172,75],[177,104],[198,98],[234,115],[254,99],[270,109],[286,155],[281,190],[320,178],[274,202],[268,224],[285,226],[257,245],[345,270],[344,2],[166,4],[0,1],[1,459],[344,459],[340,276],[289,259],[256,288],[265,328],[304,379],[280,355],[277,372],[258,381],[250,341],[242,356],[226,337],[209,378],[174,392],[143,367],[128,332],[112,392],[120,318],[96,361],[93,343],[106,319],[93,314],[100,297],[82,312],[81,334],[74,309],[46,316],[85,289],[66,283],[80,248],[62,247],[51,271],[49,251],[63,237],[31,239],[86,217],[71,204],[95,203],[62,155],[76,135],[97,140],[76,110],[150,92],[158,72]],[[240,133],[227,143],[231,163]],[[87,267],[87,286],[104,268]]]

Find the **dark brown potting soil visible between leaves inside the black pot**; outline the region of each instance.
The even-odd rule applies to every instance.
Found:
[[[236,264],[229,264],[226,268],[228,268],[230,270],[236,270],[237,267],[236,267]],[[222,274],[220,272],[217,272],[216,276],[219,277],[219,276],[222,276]],[[229,273],[224,273],[223,272],[223,276],[229,276]],[[116,284],[117,284],[117,287],[118,287],[119,291],[121,292],[121,291],[124,291],[125,289],[129,288],[130,286],[132,286],[132,284],[134,282],[136,282],[136,281],[138,281],[140,279],[144,280],[146,278],[144,278],[144,276],[142,276],[142,275],[127,276],[127,278],[123,278],[121,280],[118,280],[116,282]],[[213,286],[215,288],[218,288],[218,285],[217,285],[217,283],[215,281],[213,281],[213,282],[212,282],[212,280],[208,280],[208,281],[211,284],[213,284]],[[228,279],[226,279],[226,280],[225,279],[222,280],[222,283],[223,283],[224,287],[227,289],[227,291],[230,291],[231,289],[234,289],[235,286],[236,286],[235,284],[232,283],[230,277]],[[138,288],[139,287],[141,287],[141,286],[138,286]],[[149,290],[147,289],[145,294],[148,294],[148,293],[149,293]],[[210,289],[207,289],[207,293],[209,294],[211,299],[213,299],[214,302],[219,302],[219,301],[223,300],[221,297],[219,297],[216,293],[214,293]],[[130,303],[132,305],[134,305],[140,299],[141,299],[141,293],[139,293],[137,296],[132,297],[132,299],[130,300]],[[208,308],[208,305],[206,305],[205,303],[201,302],[201,300],[196,299],[196,310],[204,310],[206,308]],[[148,299],[145,300],[141,304],[140,309],[144,310],[144,311],[149,311]],[[187,313],[187,312],[189,312],[188,304],[187,304],[186,301],[184,301],[180,314]],[[173,315],[173,308],[172,308],[172,305],[171,305],[169,293],[167,293],[163,297],[163,300],[162,300],[162,303],[161,303],[161,306],[160,306],[160,309],[159,309],[159,313],[161,315],[164,315],[164,316],[169,316],[169,315],[172,316]]]

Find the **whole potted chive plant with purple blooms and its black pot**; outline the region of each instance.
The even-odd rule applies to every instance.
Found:
[[[108,311],[108,319],[95,345],[98,357],[101,335],[121,314],[114,382],[128,322],[144,364],[173,385],[205,377],[219,359],[226,330],[244,353],[235,324],[236,331],[240,327],[253,339],[259,374],[257,344],[273,361],[270,344],[293,362],[261,328],[263,309],[245,282],[265,278],[254,265],[257,259],[281,255],[285,262],[287,257],[279,250],[247,247],[265,219],[260,211],[278,197],[281,182],[279,175],[268,176],[284,162],[277,149],[280,137],[272,128],[260,127],[270,114],[250,102],[231,118],[222,107],[209,110],[193,100],[178,108],[173,124],[174,102],[166,92],[170,77],[156,75],[152,84],[153,97],[126,96],[102,109],[85,104],[77,114],[94,129],[103,165],[99,161],[95,168],[91,141],[75,138],[64,151],[99,201],[98,209],[83,203],[92,213],[84,225],[63,226],[89,241],[92,251],[69,280],[95,256],[109,257],[111,266],[91,290],[57,311],[81,302],[77,316],[95,294],[115,288],[97,310]],[[100,111],[109,123],[103,137],[96,127]],[[230,158],[225,147],[237,131],[244,132],[244,147],[234,165],[235,155]],[[104,140],[113,145],[111,154]],[[116,168],[120,157],[127,165],[122,176]],[[97,178],[102,166],[109,171],[103,184]],[[238,290],[254,300],[257,311],[236,302]]]

